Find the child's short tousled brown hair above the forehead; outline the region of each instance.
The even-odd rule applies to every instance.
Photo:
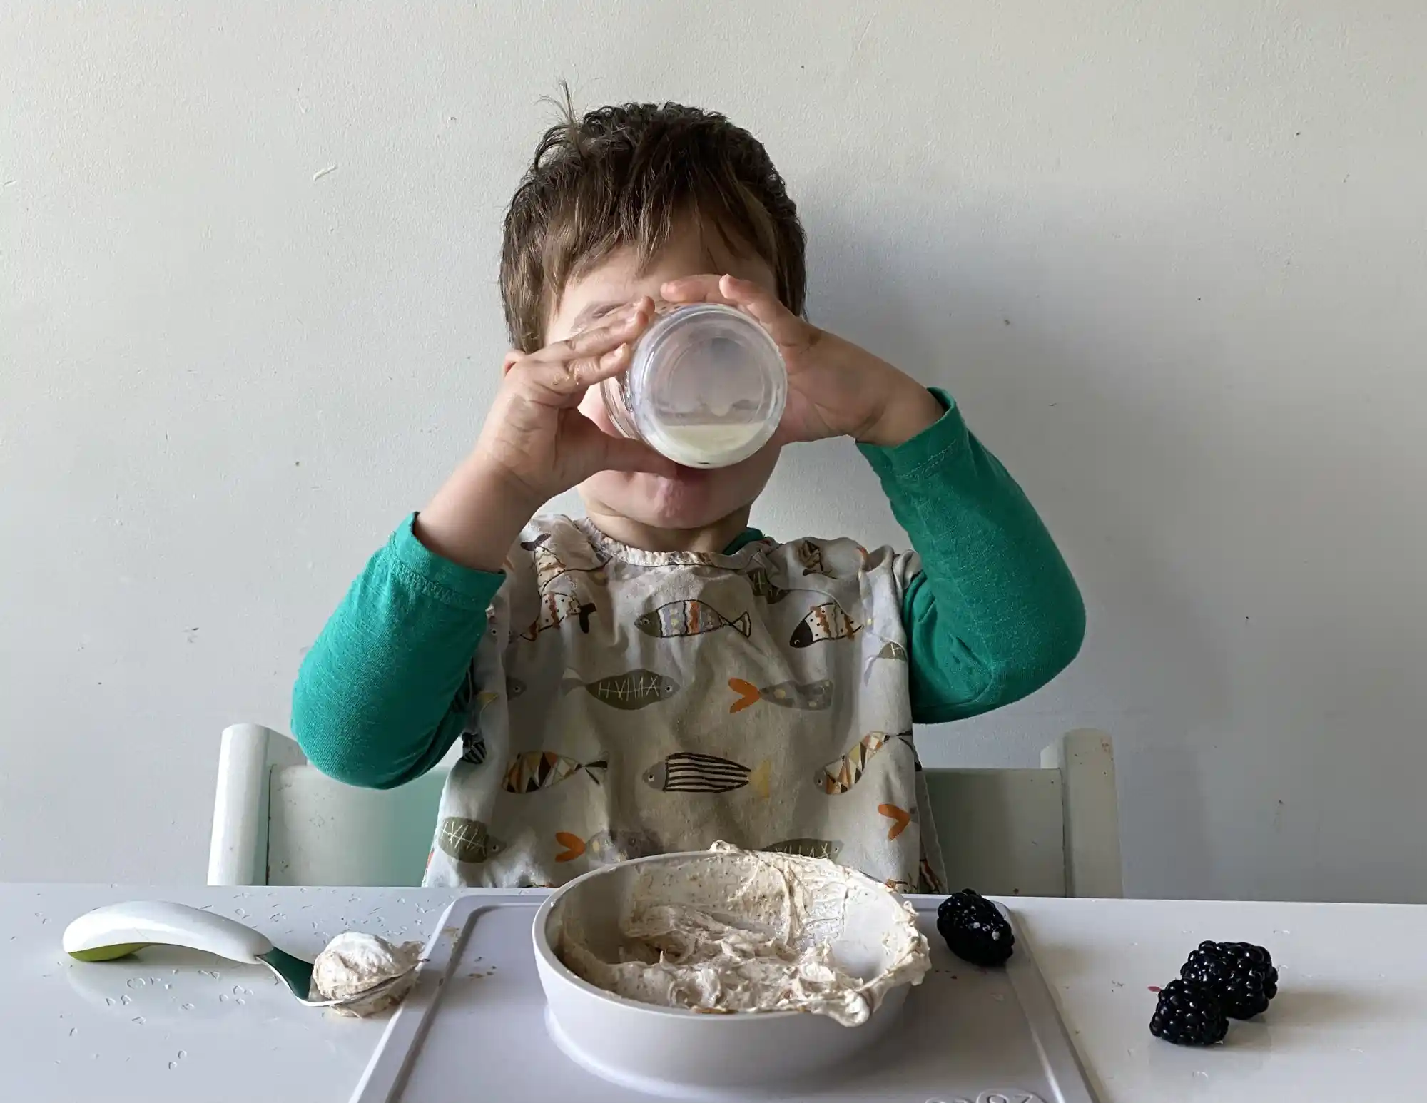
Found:
[[[517,348],[545,344],[547,312],[568,280],[622,247],[654,260],[682,218],[756,253],[783,305],[802,314],[802,224],[758,138],[721,114],[674,103],[577,118],[568,88],[562,113],[505,213],[501,298]]]

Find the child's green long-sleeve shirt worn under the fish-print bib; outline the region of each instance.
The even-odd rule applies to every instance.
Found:
[[[902,608],[919,723],[1026,696],[1085,635],[1080,592],[1050,534],[955,404],[938,398],[946,412],[925,432],[895,448],[859,445],[922,561]],[[293,693],[303,751],[351,785],[408,782],[457,741],[465,672],[504,581],[427,549],[412,519],[352,582]],[[729,551],[761,535],[748,529]]]

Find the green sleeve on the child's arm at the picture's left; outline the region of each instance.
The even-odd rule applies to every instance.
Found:
[[[465,672],[504,575],[472,571],[392,534],[303,661],[293,733],[348,785],[390,789],[431,769],[465,718]]]

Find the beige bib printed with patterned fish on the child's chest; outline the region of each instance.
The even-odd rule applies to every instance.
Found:
[[[719,839],[942,890],[912,743],[915,552],[648,552],[537,518],[471,662],[425,883],[555,886]]]

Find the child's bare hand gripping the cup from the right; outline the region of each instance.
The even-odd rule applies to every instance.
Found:
[[[756,320],[788,364],[779,444],[853,437],[893,447],[938,421],[942,404],[910,375],[836,334],[819,330],[778,295],[732,275],[691,275],[661,288],[666,303],[722,303]]]

